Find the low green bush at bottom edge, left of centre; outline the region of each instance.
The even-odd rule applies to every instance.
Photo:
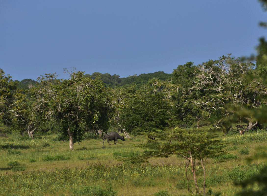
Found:
[[[113,190],[111,185],[106,188],[98,185],[85,186],[83,189],[73,191],[75,196],[115,196],[116,194],[117,192]]]

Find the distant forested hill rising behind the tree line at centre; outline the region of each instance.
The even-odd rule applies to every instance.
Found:
[[[101,74],[99,72],[94,72],[92,75],[85,74],[86,77],[91,77],[92,79],[100,77],[100,79],[106,84],[107,87],[125,86],[135,83],[138,87],[146,84],[148,80],[152,78],[157,78],[159,80],[166,80],[172,77],[172,74],[166,74],[163,71],[154,72],[151,74],[140,74],[120,78],[119,75],[110,75],[108,73]]]

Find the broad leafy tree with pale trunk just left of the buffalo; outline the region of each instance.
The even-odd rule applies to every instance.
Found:
[[[40,83],[32,94],[34,111],[44,120],[57,120],[73,150],[73,143],[81,141],[85,130],[108,130],[113,106],[101,80],[84,77],[84,72],[65,71],[70,74],[68,80],[57,80],[55,74],[38,78]]]

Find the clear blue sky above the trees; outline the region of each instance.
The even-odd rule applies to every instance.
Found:
[[[0,68],[129,75],[255,53],[267,19],[257,0],[0,0]]]

